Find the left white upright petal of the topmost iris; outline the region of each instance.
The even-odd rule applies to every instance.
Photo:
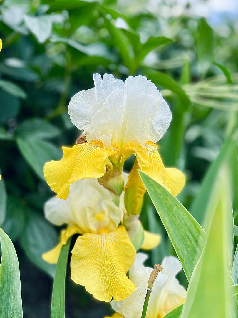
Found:
[[[69,116],[72,123],[87,133],[88,140],[94,140],[92,117],[115,89],[123,89],[124,83],[111,74],[93,75],[94,88],[80,91],[69,102]]]

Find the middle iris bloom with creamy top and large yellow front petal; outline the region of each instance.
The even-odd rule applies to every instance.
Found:
[[[112,297],[122,300],[135,291],[126,273],[136,250],[125,227],[119,225],[122,205],[123,195],[118,207],[111,192],[97,179],[85,179],[70,185],[68,199],[52,197],[44,208],[45,217],[51,223],[67,227],[61,231],[59,244],[44,253],[43,259],[57,263],[69,237],[81,234],[72,250],[71,278],[100,301],[110,301]],[[149,239],[150,235],[154,241],[156,235],[149,233]],[[144,245],[148,248],[148,236],[145,237]]]

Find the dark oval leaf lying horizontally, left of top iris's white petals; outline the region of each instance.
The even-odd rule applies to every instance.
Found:
[[[60,135],[60,130],[40,118],[31,118],[23,121],[15,130],[14,135],[27,139],[54,138]]]

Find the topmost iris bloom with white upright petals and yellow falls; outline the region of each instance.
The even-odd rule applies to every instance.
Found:
[[[74,95],[68,109],[71,121],[85,131],[88,142],[63,147],[60,161],[45,164],[51,189],[58,198],[66,199],[76,180],[102,177],[108,157],[113,165],[120,165],[136,154],[135,167],[177,195],[184,186],[184,175],[164,167],[155,144],[172,118],[156,86],[144,76],[129,76],[125,83],[110,74],[103,78],[94,74],[93,78],[95,87]],[[140,183],[138,178],[136,169],[133,180],[129,178],[131,187]],[[143,188],[142,184],[137,188]]]

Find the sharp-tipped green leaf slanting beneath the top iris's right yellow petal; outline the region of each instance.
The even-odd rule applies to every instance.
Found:
[[[139,171],[142,182],[161,218],[188,279],[202,253],[202,227],[185,207],[159,183]]]

